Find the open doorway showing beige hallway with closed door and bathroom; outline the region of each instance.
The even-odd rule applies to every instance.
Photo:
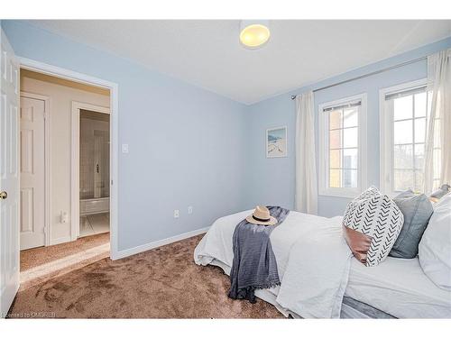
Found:
[[[21,69],[20,101],[23,289],[110,256],[111,98]]]

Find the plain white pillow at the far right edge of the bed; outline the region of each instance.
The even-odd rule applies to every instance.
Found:
[[[451,194],[434,206],[419,242],[419,264],[438,288],[451,291]]]

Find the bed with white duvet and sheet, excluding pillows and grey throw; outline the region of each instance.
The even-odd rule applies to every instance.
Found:
[[[198,243],[195,262],[228,275],[235,226],[252,212],[217,219]],[[451,318],[451,292],[437,288],[418,259],[389,257],[365,267],[349,251],[341,221],[291,211],[271,234],[281,286],[256,290],[255,296],[293,317]]]

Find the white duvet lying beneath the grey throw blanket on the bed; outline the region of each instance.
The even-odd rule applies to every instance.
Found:
[[[207,265],[215,260],[229,273],[235,226],[252,212],[217,219],[194,251],[196,263]],[[341,219],[291,211],[272,231],[281,286],[268,291],[278,308],[304,318],[339,318],[352,256]]]

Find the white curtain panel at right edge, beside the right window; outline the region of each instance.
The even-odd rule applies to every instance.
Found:
[[[425,152],[426,193],[451,183],[451,49],[428,56],[428,91],[432,91],[432,100]],[[434,187],[438,175],[440,181]]]

